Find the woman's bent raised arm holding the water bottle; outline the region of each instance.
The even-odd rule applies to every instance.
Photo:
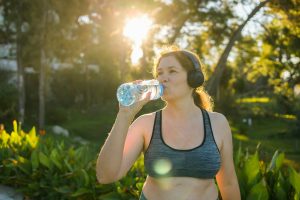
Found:
[[[149,101],[148,98],[130,107],[120,106],[115,123],[99,153],[96,175],[100,183],[119,180],[130,169],[144,144],[143,117],[131,124],[136,113]]]

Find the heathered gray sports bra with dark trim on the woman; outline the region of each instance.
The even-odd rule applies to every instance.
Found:
[[[155,114],[151,141],[144,154],[145,170],[149,176],[194,177],[213,179],[220,169],[221,158],[215,142],[209,115],[201,109],[204,123],[203,142],[192,149],[180,150],[168,146],[162,137],[162,111]]]

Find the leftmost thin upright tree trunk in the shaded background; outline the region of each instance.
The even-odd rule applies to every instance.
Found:
[[[21,3],[18,8],[21,8]],[[24,123],[25,117],[25,81],[24,81],[24,67],[22,65],[22,46],[21,46],[21,25],[22,19],[18,16],[17,19],[17,83],[18,83],[18,121]]]

